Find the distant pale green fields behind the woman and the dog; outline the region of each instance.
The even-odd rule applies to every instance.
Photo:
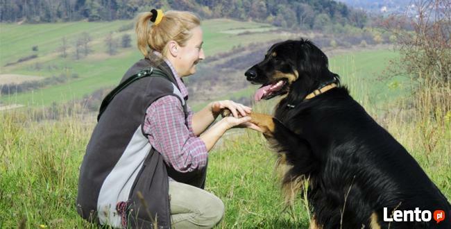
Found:
[[[49,85],[39,90],[0,96],[0,103],[31,106],[51,105],[73,99],[80,99],[95,90],[116,85],[126,69],[133,62],[142,58],[135,48],[133,21],[116,22],[70,22],[60,24],[0,24],[0,73],[20,74],[25,76],[59,76],[60,74],[77,74],[67,83]],[[251,42],[267,42],[275,39],[287,39],[289,35],[280,35],[276,29],[267,24],[254,22],[237,22],[230,19],[206,20],[202,24],[204,31],[204,47],[207,58],[217,53],[230,51],[234,46],[246,46]],[[119,32],[119,28],[128,30]],[[80,60],[74,60],[74,42],[81,33],[87,32],[92,37],[90,49],[92,53]],[[118,49],[118,53],[109,56],[105,52],[104,37],[114,32],[113,36],[120,39],[128,33],[133,37],[133,47]],[[248,33],[245,33],[248,32]],[[239,35],[245,33],[244,35]],[[62,37],[67,37],[69,56],[60,57],[59,47]],[[32,51],[37,46],[38,51]],[[16,62],[19,58],[37,54],[38,58],[4,67]],[[379,105],[387,99],[402,94],[407,84],[402,84],[402,78],[378,80],[389,59],[396,58],[397,53],[389,50],[356,51],[330,58],[330,68],[337,72],[343,83],[354,82],[351,92],[359,101]],[[191,76],[196,77],[196,76]],[[9,79],[10,80],[10,79]],[[17,83],[23,78],[16,78]],[[10,82],[10,81],[8,81]],[[359,83],[355,83],[359,82]],[[2,78],[0,78],[0,84]],[[189,87],[189,83],[188,83]],[[218,94],[212,99],[230,99],[252,96],[255,87],[244,90],[230,91],[228,94]],[[205,102],[190,101],[194,110],[198,110]]]

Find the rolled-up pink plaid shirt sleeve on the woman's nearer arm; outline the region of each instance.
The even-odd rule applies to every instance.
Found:
[[[189,119],[192,112],[185,120],[176,96],[163,96],[147,108],[144,120],[143,130],[151,145],[179,172],[202,169],[207,164],[207,148],[189,128]]]

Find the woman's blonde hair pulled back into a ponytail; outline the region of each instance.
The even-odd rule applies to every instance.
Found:
[[[151,22],[152,12],[142,12],[137,17],[135,31],[137,46],[145,57],[149,50],[155,50],[163,55],[167,53],[166,44],[173,40],[180,46],[185,46],[192,37],[191,30],[201,25],[201,20],[192,12],[170,10],[164,12],[161,22],[157,25]]]

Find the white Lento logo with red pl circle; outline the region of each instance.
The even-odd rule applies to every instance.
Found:
[[[389,215],[389,211],[384,207],[384,221],[386,222],[429,222],[432,220],[432,216],[437,223],[440,223],[446,217],[443,210],[436,210],[432,214],[431,211],[420,210],[419,207],[415,207],[415,210],[395,210],[393,214]]]

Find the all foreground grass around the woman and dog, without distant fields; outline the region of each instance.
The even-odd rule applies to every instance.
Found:
[[[451,112],[439,106],[434,118],[427,110],[437,102],[449,104],[451,92],[441,92],[442,100],[434,100],[432,93],[405,98],[422,108],[409,110],[414,114],[410,118],[389,113],[378,121],[450,198]],[[274,102],[259,103],[254,109],[267,112]],[[65,116],[67,111],[60,110],[62,119],[37,122],[35,112],[26,108],[0,113],[0,228],[95,228],[78,217],[74,203],[78,167],[95,117]],[[299,195],[293,206],[285,207],[274,164],[266,140],[250,130],[232,130],[215,147],[206,189],[226,205],[218,228],[307,228],[305,201]]]

